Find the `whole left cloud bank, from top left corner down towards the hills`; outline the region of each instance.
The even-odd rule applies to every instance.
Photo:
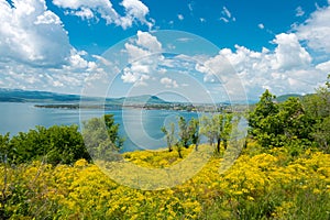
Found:
[[[0,0],[0,22],[2,87],[77,92],[96,69],[44,0]]]

